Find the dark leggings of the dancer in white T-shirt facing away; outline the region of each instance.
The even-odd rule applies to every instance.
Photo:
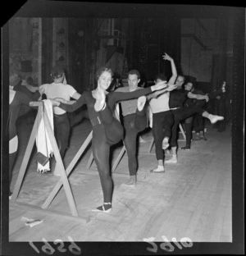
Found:
[[[54,133],[61,158],[63,159],[68,147],[70,135],[70,123],[66,113],[62,115],[54,115]]]

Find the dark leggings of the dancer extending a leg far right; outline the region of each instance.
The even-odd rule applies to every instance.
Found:
[[[201,101],[206,103],[205,99]],[[187,117],[193,116],[195,113],[202,115],[204,110],[203,108],[194,105],[192,107],[180,107],[178,109],[171,110],[171,112],[174,117],[174,125],[171,128],[171,147],[177,147],[178,128],[180,121]]]

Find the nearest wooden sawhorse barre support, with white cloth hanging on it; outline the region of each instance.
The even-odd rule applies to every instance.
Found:
[[[65,193],[66,193],[66,199],[67,199],[67,201],[69,203],[69,206],[70,206],[70,209],[71,209],[71,215],[73,217],[78,217],[79,214],[77,212],[77,208],[76,208],[76,205],[75,205],[75,200],[74,200],[73,194],[71,192],[71,186],[68,182],[67,177],[71,173],[71,170],[75,166],[75,163],[78,161],[81,154],[84,152],[84,150],[86,149],[90,140],[92,139],[92,131],[89,134],[88,138],[85,139],[84,144],[82,144],[79,152],[75,155],[75,158],[73,158],[70,165],[66,168],[66,171],[65,171],[65,168],[64,168],[64,165],[63,165],[63,162],[62,162],[62,158],[61,158],[59,149],[57,147],[57,141],[56,141],[56,139],[53,135],[52,126],[51,126],[51,124],[48,120],[48,115],[47,115],[45,107],[43,106],[43,102],[42,101],[31,102],[30,107],[39,107],[39,110],[38,110],[37,117],[34,121],[34,126],[33,126],[33,130],[31,131],[29,142],[28,142],[27,147],[25,149],[24,158],[21,162],[21,169],[20,169],[19,175],[18,175],[17,180],[16,180],[15,188],[13,190],[13,194],[12,194],[12,197],[11,197],[11,203],[16,203],[17,196],[18,196],[18,194],[21,190],[21,184],[22,184],[24,176],[25,176],[25,170],[26,170],[27,164],[30,160],[30,154],[31,154],[33,146],[34,146],[35,138],[36,138],[36,135],[37,135],[37,130],[39,129],[40,121],[43,118],[44,126],[47,129],[48,138],[50,139],[50,142],[52,144],[53,153],[54,153],[54,156],[55,156],[56,161],[57,161],[57,167],[58,167],[59,171],[61,172],[61,178],[57,182],[57,185],[52,190],[52,192],[49,194],[48,199],[46,199],[46,201],[43,203],[43,206],[41,208],[43,208],[43,209],[48,208],[48,205],[52,202],[52,199],[54,199],[57,192],[60,190],[62,185],[64,185],[64,190],[65,190]],[[24,206],[26,205],[29,208],[37,209],[37,206],[32,207],[30,204],[25,204],[25,203],[16,203],[16,204],[21,204],[21,205],[24,205]],[[48,212],[52,213],[52,211],[48,211]],[[53,212],[55,213],[55,211],[53,211]]]

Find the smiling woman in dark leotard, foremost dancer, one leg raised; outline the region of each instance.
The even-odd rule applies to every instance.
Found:
[[[123,139],[123,127],[121,122],[113,117],[113,109],[116,102],[130,98],[139,98],[137,115],[144,108],[146,94],[150,94],[157,89],[163,89],[166,84],[158,84],[146,89],[139,89],[130,93],[111,92],[107,93],[107,88],[112,82],[112,70],[103,67],[97,73],[98,86],[91,92],[84,92],[73,104],[61,99],[54,98],[53,104],[62,109],[73,112],[77,108],[86,104],[89,113],[89,120],[93,126],[93,158],[98,167],[101,185],[103,188],[103,205],[93,209],[93,212],[109,213],[112,211],[112,177],[109,170],[109,150],[112,144],[116,144]],[[141,118],[141,116],[139,115]]]

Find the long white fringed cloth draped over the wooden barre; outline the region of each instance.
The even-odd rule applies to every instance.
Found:
[[[49,99],[43,99],[43,113],[42,113],[42,118],[39,124],[39,129],[37,131],[36,146],[37,146],[38,153],[40,152],[45,157],[50,158],[52,157],[53,150],[52,150],[50,139],[48,137],[47,128],[45,127],[44,120],[43,120],[44,109],[47,113],[48,121],[51,124],[52,131],[54,130],[52,102]],[[37,171],[41,173],[50,171],[49,161],[44,166],[38,162]]]

